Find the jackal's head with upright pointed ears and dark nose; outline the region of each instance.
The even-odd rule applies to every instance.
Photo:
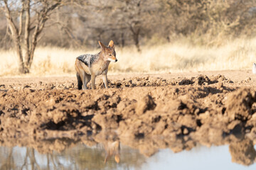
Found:
[[[99,44],[100,47],[102,47],[102,55],[105,60],[108,60],[110,62],[117,62],[116,53],[114,51],[114,41],[111,40],[107,47],[100,41]]]

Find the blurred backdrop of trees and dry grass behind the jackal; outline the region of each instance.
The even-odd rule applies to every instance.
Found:
[[[74,74],[75,57],[99,52],[98,40],[114,40],[112,73],[250,69],[256,62],[255,0],[1,0],[0,8],[0,76],[24,73],[20,57],[29,74]]]

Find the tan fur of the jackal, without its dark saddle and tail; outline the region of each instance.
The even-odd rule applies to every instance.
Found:
[[[88,67],[84,62],[78,60],[78,58],[75,60],[75,70],[82,80],[82,89],[87,89],[87,83],[90,80],[92,80],[92,89],[95,89],[95,77],[100,74],[102,74],[105,88],[108,88],[107,71],[110,60],[112,62],[117,62],[114,51],[114,42],[111,40],[108,47],[100,41],[99,44],[102,50],[99,55],[92,55],[93,57],[98,58],[90,65],[90,67]]]

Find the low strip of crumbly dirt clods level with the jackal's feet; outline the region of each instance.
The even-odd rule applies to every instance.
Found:
[[[122,80],[109,80],[110,88],[124,89],[129,87],[137,87],[137,86],[181,86],[181,85],[194,85],[194,86],[202,86],[202,85],[210,85],[210,84],[233,84],[233,81],[230,79],[226,79],[223,75],[218,76],[206,76],[199,75],[198,77],[191,77],[190,79],[186,77],[178,77],[178,79],[164,79],[161,77],[131,77],[131,78],[123,78]],[[88,88],[91,89],[91,84],[87,84]],[[31,82],[18,81],[18,83],[8,82],[6,84],[0,84],[0,90],[7,89],[31,89],[32,91],[35,89],[41,90],[53,90],[53,89],[77,89],[77,82],[75,79],[70,80],[68,78],[61,81],[60,78],[51,79],[51,81],[38,81]],[[105,89],[102,79],[97,79],[96,81],[96,89]]]

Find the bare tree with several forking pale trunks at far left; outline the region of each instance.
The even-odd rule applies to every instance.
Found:
[[[28,73],[31,69],[39,35],[50,14],[61,4],[61,0],[4,0],[9,35],[14,42],[21,73]]]

